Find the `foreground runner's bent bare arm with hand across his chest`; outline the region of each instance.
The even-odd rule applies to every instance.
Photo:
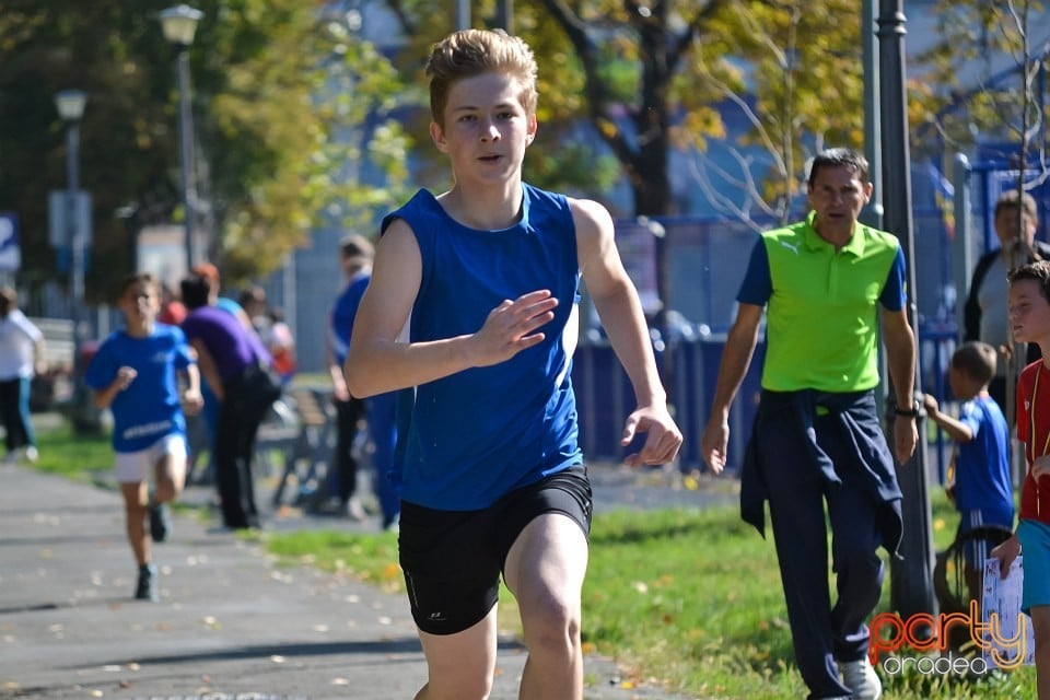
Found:
[[[376,246],[372,280],[353,322],[343,372],[354,396],[417,386],[508,360],[542,341],[539,328],[553,318],[551,310],[558,305],[549,291],[537,290],[504,301],[476,332],[429,342],[398,341],[421,279],[419,244],[408,224],[396,220]]]

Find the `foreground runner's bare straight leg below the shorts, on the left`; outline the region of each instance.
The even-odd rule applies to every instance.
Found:
[[[416,700],[486,700],[495,673],[495,610],[483,620],[455,634],[429,634],[419,639],[427,656],[429,680]]]

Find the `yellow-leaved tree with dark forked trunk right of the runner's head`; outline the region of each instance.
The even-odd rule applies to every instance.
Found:
[[[392,5],[413,56],[453,28],[453,18],[432,3]],[[475,8],[472,24],[491,24],[492,3]],[[611,174],[626,177],[633,200],[618,213],[681,213],[672,153],[703,163],[711,141],[730,138],[720,109],[728,104],[747,121],[730,144],[744,167],[711,194],[736,187],[780,213],[822,143],[862,145],[861,18],[851,0],[542,0],[518,2],[513,16],[540,67],[541,128],[526,163],[537,184],[602,195],[591,188],[607,191],[610,153]],[[605,154],[594,139],[579,138],[581,121]]]

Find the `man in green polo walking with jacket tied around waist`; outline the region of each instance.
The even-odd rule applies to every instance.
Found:
[[[765,311],[762,396],[744,459],[740,513],[765,533],[769,501],[795,660],[809,698],[876,699],[865,620],[878,604],[878,547],[900,544],[901,493],[875,409],[882,322],[896,399],[894,453],[914,452],[915,338],[895,236],[858,222],[872,195],[867,161],[830,149],[809,171],[804,221],[763,233],[737,294],[701,450],[725,466],[728,412]],[[878,306],[882,305],[879,313]],[[831,525],[837,599],[827,572]]]

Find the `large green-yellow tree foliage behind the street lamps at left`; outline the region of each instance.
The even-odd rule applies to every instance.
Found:
[[[131,270],[140,226],[211,234],[231,283],[275,269],[322,221],[361,225],[405,195],[410,140],[390,62],[323,2],[201,0],[190,47],[201,195],[182,211],[175,49],[158,0],[9,0],[0,13],[0,209],[22,222],[24,283],[54,277],[47,192],[66,187],[56,92],[88,93],[82,186],[93,198],[89,298]],[[363,168],[370,175],[362,175]],[[368,179],[368,183],[365,182]],[[101,262],[103,261],[103,262]]]

